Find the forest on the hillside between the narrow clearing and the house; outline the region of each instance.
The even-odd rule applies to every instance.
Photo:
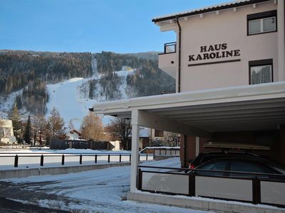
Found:
[[[156,54],[157,55],[157,54]],[[120,78],[110,74],[121,70],[123,66],[136,70],[134,75],[128,75],[127,84],[133,90],[133,97],[161,94],[165,90],[175,90],[175,80],[158,68],[157,56],[153,52],[136,54],[117,54],[112,52],[96,53],[99,73],[105,73],[100,80],[101,87],[118,84]],[[155,59],[154,59],[155,58]],[[94,84],[92,82],[91,84]],[[106,88],[108,89],[108,88]],[[114,97],[113,89],[109,89],[107,95]]]

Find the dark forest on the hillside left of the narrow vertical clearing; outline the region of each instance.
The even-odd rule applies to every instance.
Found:
[[[31,80],[55,83],[90,75],[90,53],[0,51],[0,94],[22,89]]]

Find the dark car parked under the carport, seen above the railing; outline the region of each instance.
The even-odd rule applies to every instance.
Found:
[[[266,158],[252,155],[214,158],[195,169],[197,175],[285,180],[284,168]]]

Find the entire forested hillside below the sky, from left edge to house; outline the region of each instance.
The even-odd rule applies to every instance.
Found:
[[[89,78],[80,89],[83,96],[94,101],[98,97],[100,101],[109,101],[175,90],[175,80],[157,65],[155,52],[91,54],[0,50],[0,110],[6,100],[4,97],[18,91],[13,99],[19,109],[46,114],[50,97],[46,84],[73,77]],[[122,76],[117,72],[120,70],[128,74]]]

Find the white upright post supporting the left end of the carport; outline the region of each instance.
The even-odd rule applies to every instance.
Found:
[[[138,110],[132,111],[132,159],[130,163],[130,192],[137,190],[138,146],[140,126],[138,126]]]

